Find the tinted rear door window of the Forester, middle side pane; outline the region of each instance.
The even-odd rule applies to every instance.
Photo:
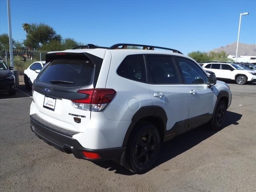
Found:
[[[178,72],[170,56],[148,56],[148,68],[152,76],[150,83],[180,83]]]

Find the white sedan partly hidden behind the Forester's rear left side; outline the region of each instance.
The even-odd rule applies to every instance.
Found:
[[[24,82],[26,88],[30,88],[30,86],[32,86],[34,80],[44,65],[45,61],[36,61],[32,63],[26,70],[24,70]]]

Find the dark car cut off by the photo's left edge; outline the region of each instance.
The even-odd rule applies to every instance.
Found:
[[[13,67],[7,67],[2,59],[0,59],[0,91],[9,92],[9,95],[16,94],[15,77],[10,71]]]

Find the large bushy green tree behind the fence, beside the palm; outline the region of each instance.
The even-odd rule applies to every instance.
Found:
[[[27,39],[24,40],[24,45],[30,49],[40,48],[42,45],[52,42],[61,42],[62,38],[60,34],[56,34],[56,31],[43,23],[29,24]]]

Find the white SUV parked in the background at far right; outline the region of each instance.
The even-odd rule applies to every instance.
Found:
[[[256,72],[245,70],[237,64],[229,62],[208,62],[202,66],[205,70],[215,73],[221,80],[235,80],[237,84],[243,85],[246,82],[256,82]]]

